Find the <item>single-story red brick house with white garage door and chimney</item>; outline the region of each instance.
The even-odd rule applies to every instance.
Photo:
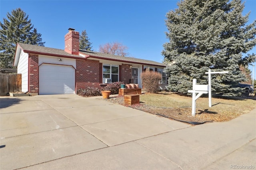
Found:
[[[22,74],[22,91],[31,95],[74,94],[80,88],[100,89],[115,81],[142,87],[140,73],[147,67],[160,72],[161,83],[166,83],[165,64],[79,50],[79,32],[72,28],[65,35],[64,50],[17,43],[14,66]]]

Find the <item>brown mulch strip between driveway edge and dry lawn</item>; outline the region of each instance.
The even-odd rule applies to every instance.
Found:
[[[115,96],[115,97],[110,97],[109,99],[102,99],[102,100],[110,101],[112,103],[123,105],[125,107],[131,107],[134,109],[159,115],[162,117],[167,117],[169,119],[173,119],[176,121],[190,123],[192,125],[199,125],[199,124],[213,122],[213,121],[217,121],[217,122],[230,121],[231,119],[234,119],[235,117],[238,117],[240,115],[240,114],[234,114],[234,113],[217,114],[215,112],[211,112],[206,109],[204,111],[200,111],[200,113],[196,113],[196,116],[193,117],[191,114],[191,111],[192,111],[191,107],[168,108],[168,107],[150,106],[150,105],[145,105],[143,103],[136,104],[136,105],[125,105],[123,96]]]

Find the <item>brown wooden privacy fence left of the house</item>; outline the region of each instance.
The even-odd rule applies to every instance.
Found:
[[[0,74],[0,95],[21,91],[21,74]]]

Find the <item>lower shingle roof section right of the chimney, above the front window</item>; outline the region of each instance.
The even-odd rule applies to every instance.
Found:
[[[94,51],[86,51],[86,50],[80,50],[80,53],[83,53],[85,55],[90,55],[85,58],[101,58],[106,60],[114,60],[114,61],[126,61],[128,63],[140,63],[140,64],[148,64],[148,65],[158,65],[158,66],[164,66],[167,65],[164,63],[158,63],[156,61],[146,60],[146,59],[138,59],[134,57],[125,57],[120,55],[112,55],[112,54],[106,54],[106,53],[99,53]]]

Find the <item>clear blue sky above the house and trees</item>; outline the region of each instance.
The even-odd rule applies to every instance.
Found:
[[[164,20],[179,1],[0,0],[0,21],[7,12],[21,8],[42,34],[46,47],[64,49],[64,35],[74,28],[80,33],[86,30],[94,51],[107,42],[120,42],[128,47],[130,57],[162,62],[163,44],[168,42]],[[256,0],[246,0],[243,14],[251,12],[249,23],[256,20],[255,6]],[[252,52],[256,53],[256,47]]]

